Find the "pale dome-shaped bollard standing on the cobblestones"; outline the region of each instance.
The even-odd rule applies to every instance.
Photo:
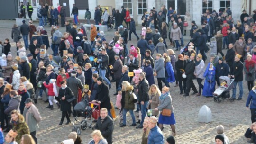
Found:
[[[203,105],[198,113],[198,122],[209,123],[211,121],[211,111],[206,105]]]

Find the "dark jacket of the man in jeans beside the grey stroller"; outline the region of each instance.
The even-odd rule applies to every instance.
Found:
[[[244,79],[243,68],[244,68],[244,65],[241,61],[233,62],[232,68],[230,70],[230,75],[235,76],[235,81],[243,81]]]

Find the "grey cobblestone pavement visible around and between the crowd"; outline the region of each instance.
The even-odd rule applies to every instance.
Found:
[[[15,23],[13,20],[0,20],[0,40],[4,41],[5,38],[10,38],[11,27]],[[38,25],[37,23],[35,24]],[[141,27],[137,27],[137,34],[140,34]],[[50,34],[50,27],[46,27],[48,34]],[[61,32],[65,31],[65,27],[60,28]],[[110,41],[113,38],[114,30],[106,32],[106,39]],[[90,35],[90,32],[87,32]],[[187,33],[188,35],[188,33]],[[185,44],[188,42],[189,37],[185,36]],[[12,40],[10,40],[13,42]],[[167,40],[167,44],[169,40]],[[13,43],[12,43],[13,44]],[[128,41],[129,45],[137,45],[136,37],[132,36],[132,41]],[[168,47],[171,48],[171,47]],[[12,45],[12,54],[16,55],[16,48]],[[27,51],[29,53],[29,51]],[[49,54],[52,54],[51,49],[48,50]],[[179,54],[175,51],[176,55]],[[209,52],[210,53],[210,52]],[[209,62],[210,54],[207,54]],[[226,53],[226,50],[224,50]],[[193,80],[198,88],[197,82]],[[157,83],[157,81],[155,80]],[[174,87],[171,84],[171,96],[173,99],[173,105],[175,109],[176,118],[176,141],[177,144],[213,144],[214,137],[216,135],[215,127],[217,125],[223,125],[225,128],[225,134],[229,137],[230,144],[246,144],[247,140],[244,137],[246,129],[250,126],[250,111],[246,109],[245,103],[247,100],[248,89],[247,82],[243,82],[244,95],[240,101],[230,102],[229,100],[216,103],[213,98],[196,97],[190,95],[183,97],[179,94],[179,88]],[[112,83],[114,87],[114,83]],[[239,90],[239,89],[237,89]],[[110,90],[110,99],[115,103],[116,97],[114,88]],[[231,92],[232,93],[232,92]],[[61,141],[67,139],[68,134],[72,131],[72,125],[58,126],[60,121],[61,112],[56,108],[54,110],[48,110],[46,103],[39,100],[36,104],[37,108],[42,116],[42,121],[39,124],[40,128],[37,131],[38,144],[60,144]],[[207,105],[212,112],[212,121],[210,123],[199,123],[197,121],[198,111],[203,106]],[[118,111],[116,110],[118,115]],[[129,114],[128,114],[129,115]],[[137,115],[137,114],[136,114]],[[131,117],[127,117],[127,125],[131,124]],[[73,120],[73,117],[71,118]],[[115,127],[113,132],[114,144],[140,144],[142,129],[135,129],[135,127],[119,127],[119,116],[114,120]],[[64,121],[65,123],[65,121]],[[94,123],[93,123],[94,125]],[[80,135],[82,137],[83,144],[87,144],[91,140],[90,128],[82,131]],[[170,126],[165,126],[163,134],[166,138],[171,135],[172,131]]]

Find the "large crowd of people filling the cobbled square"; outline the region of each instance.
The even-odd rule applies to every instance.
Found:
[[[27,8],[30,8],[29,3]],[[24,141],[37,144],[36,131],[41,116],[36,104],[40,99],[48,103],[46,108],[49,110],[54,110],[54,105],[60,108],[62,117],[59,125],[63,125],[65,117],[65,124],[70,124],[71,114],[73,117],[80,116],[72,107],[82,99],[98,103],[100,117],[95,120],[93,140],[89,144],[112,144],[115,115],[111,109],[119,110],[120,127],[127,126],[126,114],[129,111],[132,118],[129,126],[143,128],[142,144],[163,144],[164,125],[170,125],[172,129],[167,144],[175,144],[176,121],[169,83],[175,82],[175,87],[179,87],[180,94],[185,97],[190,95],[191,88],[192,95],[213,97],[217,87],[225,86],[220,83],[220,76],[234,79],[230,99],[236,99],[238,84],[239,96],[236,100],[241,100],[245,75],[250,91],[246,106],[250,104],[251,120],[255,122],[256,23],[253,18],[256,17],[256,10],[253,16],[247,16],[243,11],[241,19],[236,22],[228,8],[219,10],[219,13],[206,10],[201,17],[202,28],[199,28],[189,12],[183,18],[171,7],[167,10],[162,6],[158,12],[153,8],[142,17],[143,28],[139,37],[129,8],[122,6],[121,9],[121,13],[113,11],[116,21],[113,38],[98,31],[94,24],[91,24],[89,38],[83,24],[79,24],[75,4],[72,27],[69,21],[65,21],[62,5],[53,9],[47,4],[37,8],[38,27],[33,25],[32,20],[29,25],[24,20],[20,27],[13,26],[11,37],[17,45],[17,56],[13,57],[10,52],[9,39],[5,39],[3,44],[0,42],[0,66],[4,77],[0,78],[0,121],[1,128],[8,132],[5,137],[8,144],[30,144]],[[107,10],[103,11],[100,6],[95,8],[96,25],[101,23],[101,16],[107,25]],[[44,29],[47,11],[50,12],[49,36]],[[88,11],[86,19],[91,18]],[[64,33],[57,27],[59,16],[61,27],[66,27]],[[126,26],[122,25],[123,21]],[[183,36],[187,31],[191,40],[184,45]],[[128,48],[132,33],[137,37],[137,46],[130,45]],[[22,37],[24,45],[20,42]],[[170,45],[166,43],[168,37]],[[225,45],[228,49],[226,55],[222,52]],[[48,54],[50,47],[53,54]],[[30,51],[27,55],[26,49]],[[179,53],[177,57],[175,50]],[[210,53],[209,63],[206,53]],[[196,79],[198,88],[193,79]],[[112,83],[115,83],[114,88]],[[111,88],[116,92],[116,107],[111,104]],[[139,113],[137,122],[134,112]],[[229,144],[224,127],[217,126],[216,130],[216,144]],[[81,144],[75,132],[70,135],[63,144]]]

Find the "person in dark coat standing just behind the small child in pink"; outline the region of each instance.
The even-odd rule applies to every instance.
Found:
[[[120,82],[120,80],[122,78],[123,63],[122,63],[122,61],[119,58],[119,54],[116,54],[114,56],[114,58],[115,58],[115,63],[113,64],[113,69],[112,69],[111,73],[114,74],[114,78],[115,78],[115,81],[116,81],[116,90],[117,90],[119,82]],[[117,95],[118,94],[117,92],[114,95]]]

